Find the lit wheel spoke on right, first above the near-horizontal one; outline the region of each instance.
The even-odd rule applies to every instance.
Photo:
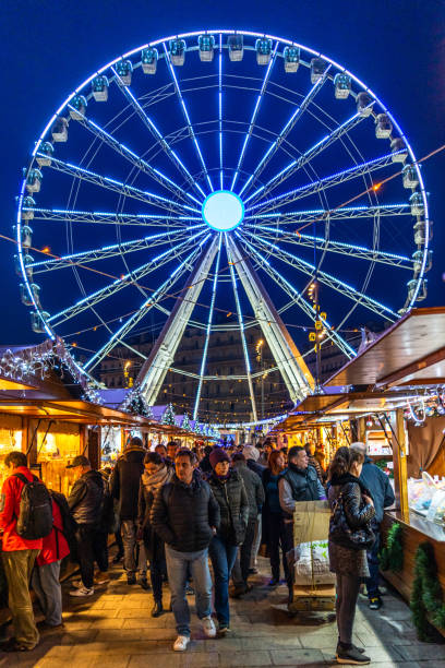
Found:
[[[257,202],[256,204],[249,206],[248,212],[253,212],[255,210],[267,212],[275,208],[276,206],[286,206],[287,204],[297,202],[297,200],[301,200],[303,198],[308,198],[318,192],[328,190],[329,188],[334,188],[336,186],[339,186],[340,183],[346,183],[351,179],[364,177],[369,174],[372,174],[373,171],[383,169],[384,167],[388,167],[393,164],[394,155],[392,153],[388,153],[373,160],[360,163],[359,165],[353,165],[353,167],[342,169],[341,171],[332,174],[327,177],[324,177],[323,179],[313,181],[312,183],[305,183],[304,186],[300,186],[299,188],[294,188],[293,190],[284,192],[279,195],[276,195],[275,198],[270,198],[269,200]]]

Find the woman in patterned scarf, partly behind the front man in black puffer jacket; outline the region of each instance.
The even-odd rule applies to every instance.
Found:
[[[149,561],[153,598],[152,617],[160,617],[163,608],[163,575],[167,573],[166,554],[163,539],[154,530],[149,514],[157,490],[173,476],[173,469],[166,465],[157,452],[147,452],[144,458],[144,473],[139,491],[139,535],[144,541]]]

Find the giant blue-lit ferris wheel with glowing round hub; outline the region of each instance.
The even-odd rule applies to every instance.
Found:
[[[57,109],[24,169],[15,263],[33,330],[75,344],[88,373],[127,346],[149,404],[191,325],[200,363],[175,371],[197,417],[209,339],[236,333],[256,419],[249,329],[297,402],[313,341],[351,358],[348,327],[425,296],[431,225],[407,136],[349,70],[281,37],[199,31],[119,56]],[[147,323],[144,355],[131,339]]]

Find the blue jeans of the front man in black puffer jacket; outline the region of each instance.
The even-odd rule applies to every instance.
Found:
[[[166,545],[168,584],[178,635],[190,636],[190,609],[185,596],[189,569],[193,577],[196,615],[200,619],[212,615],[212,578],[207,553],[207,548],[197,552],[178,552]]]

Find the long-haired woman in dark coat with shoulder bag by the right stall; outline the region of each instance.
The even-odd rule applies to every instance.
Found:
[[[370,492],[359,480],[364,462],[363,453],[339,448],[329,467],[328,500],[334,508],[341,493],[346,521],[351,529],[363,528],[375,514]],[[337,660],[339,664],[365,665],[370,658],[352,644],[352,628],[357,598],[362,577],[369,576],[366,551],[339,546],[332,540],[334,515],[329,525],[329,564],[336,574],[336,613],[338,627]]]

